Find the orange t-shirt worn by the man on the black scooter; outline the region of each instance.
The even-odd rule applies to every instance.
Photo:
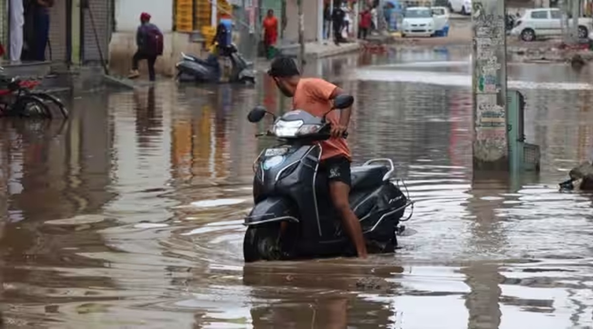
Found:
[[[336,88],[336,85],[323,79],[301,78],[295,95],[292,98],[292,108],[302,109],[315,115],[315,117],[323,117],[323,114],[331,109],[330,96]],[[326,119],[332,125],[339,124],[340,111],[337,109],[331,111]],[[320,144],[321,160],[344,156],[346,159],[352,161],[350,148],[345,138],[330,138],[329,140],[320,141]]]

